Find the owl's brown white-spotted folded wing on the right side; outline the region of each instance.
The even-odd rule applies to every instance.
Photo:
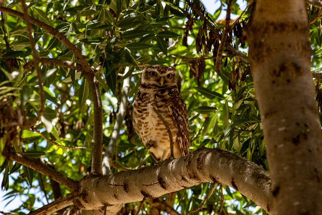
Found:
[[[187,106],[178,91],[174,93],[172,98],[173,102],[170,108],[172,109],[175,122],[178,125],[176,142],[178,142],[180,146],[182,155],[185,156],[189,154],[190,148],[190,130]]]

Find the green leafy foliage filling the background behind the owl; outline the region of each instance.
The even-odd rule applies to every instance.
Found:
[[[240,9],[246,5],[240,1],[231,5],[236,19],[230,20],[226,46],[221,53],[221,70],[215,71],[226,22],[224,16],[219,16],[225,14],[225,0],[220,1],[214,15],[208,14],[199,1],[63,0],[44,3],[30,1],[29,15],[65,35],[93,68],[103,66],[98,69],[96,78],[104,105],[104,151],[120,110],[124,79],[131,77],[128,99],[133,103],[140,82],[139,71],[148,64],[168,64],[178,71],[180,91],[188,107],[190,151],[199,147],[220,148],[268,169],[261,119],[246,57],[248,46],[243,38],[251,4],[245,10]],[[23,11],[19,1],[6,3],[5,7]],[[310,25],[310,41],[312,66],[320,71],[320,11],[308,6],[308,15],[311,21],[317,17]],[[44,59],[79,62],[56,37],[37,25],[32,28],[42,59],[40,68],[46,102],[41,120],[26,126],[40,114],[42,105],[36,70],[27,66],[34,56],[26,22],[2,13],[0,172],[4,176],[2,189],[7,190],[4,198],[13,201],[20,196],[22,201],[12,212],[33,210],[35,202],[46,204],[56,196],[49,178],[7,160],[10,151],[37,158],[44,164],[51,163],[57,171],[75,180],[89,173],[92,160],[94,111],[89,83],[81,71],[64,66],[68,62],[46,63]],[[242,51],[239,55],[238,50]],[[321,101],[320,94],[317,95],[317,100]],[[153,162],[133,130],[132,103],[127,107],[113,153],[114,173],[142,168]],[[9,183],[9,179],[13,183]],[[187,214],[197,208],[210,187],[210,184],[202,184],[177,192],[171,199],[174,209]],[[214,187],[203,208],[195,214],[262,212],[250,207],[255,206],[254,203],[233,189]],[[60,190],[60,195],[68,193],[62,186]],[[122,211],[127,214],[137,206],[138,203],[130,203]],[[142,214],[148,213],[148,208],[149,204],[145,203]]]

